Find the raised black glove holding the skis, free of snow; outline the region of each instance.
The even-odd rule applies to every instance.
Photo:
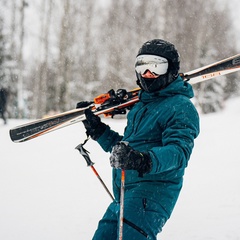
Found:
[[[87,107],[90,104],[89,102],[79,102],[77,103],[77,108]],[[93,140],[98,140],[98,138],[106,130],[107,125],[101,122],[100,117],[96,116],[89,108],[86,109],[84,113],[86,116],[86,120],[83,120],[83,124],[87,130],[87,136],[90,136]]]

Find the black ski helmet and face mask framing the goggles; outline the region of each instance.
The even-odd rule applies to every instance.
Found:
[[[168,60],[167,73],[160,75],[158,78],[143,78],[141,74],[136,72],[137,83],[145,91],[154,92],[163,89],[177,78],[180,59],[178,51],[172,43],[162,39],[147,41],[139,49],[137,56],[139,55],[156,55]]]

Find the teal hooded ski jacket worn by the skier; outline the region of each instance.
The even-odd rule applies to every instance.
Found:
[[[165,89],[154,93],[140,91],[140,101],[127,116],[121,136],[108,126],[98,143],[111,152],[118,141],[127,141],[152,159],[150,173],[139,177],[126,170],[125,198],[147,198],[160,204],[169,218],[182,187],[184,170],[199,134],[199,116],[190,101],[192,86],[179,76]],[[113,169],[113,192],[120,198],[121,170]]]

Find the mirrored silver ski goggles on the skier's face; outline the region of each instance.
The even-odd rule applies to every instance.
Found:
[[[156,55],[139,55],[135,61],[135,70],[143,75],[147,70],[155,75],[163,75],[167,72],[168,60]]]

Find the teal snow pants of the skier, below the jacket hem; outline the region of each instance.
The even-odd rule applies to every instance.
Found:
[[[99,221],[92,240],[117,240],[120,204],[112,202]],[[124,240],[156,240],[168,216],[160,204],[146,198],[124,200],[124,218],[132,224],[123,224]]]

